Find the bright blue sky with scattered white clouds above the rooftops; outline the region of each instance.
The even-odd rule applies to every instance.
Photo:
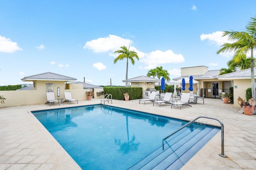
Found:
[[[44,0],[0,1],[0,86],[26,84],[25,76],[54,72],[94,85],[125,85],[126,61],[114,51],[129,46],[140,58],[128,78],[163,66],[227,67],[232,53],[222,31],[245,31],[255,0]],[[172,81],[172,80],[171,80]]]

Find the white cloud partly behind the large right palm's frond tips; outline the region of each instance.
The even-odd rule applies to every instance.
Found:
[[[208,40],[209,45],[216,44],[219,47],[224,43],[234,43],[234,41],[228,40],[228,36],[222,37],[223,33],[223,31],[216,31],[210,34],[203,33],[202,35],[200,35],[200,39],[201,41]],[[229,58],[234,56],[234,52],[220,53],[220,55]]]

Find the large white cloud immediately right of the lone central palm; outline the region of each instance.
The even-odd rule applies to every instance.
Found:
[[[181,54],[174,54],[172,50],[156,50],[149,54],[145,54],[145,57],[140,59],[140,62],[147,65],[144,69],[154,68],[159,64],[182,63],[184,61],[185,59]]]

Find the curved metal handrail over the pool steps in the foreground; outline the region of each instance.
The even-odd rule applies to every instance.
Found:
[[[199,118],[207,118],[207,119],[214,119],[216,121],[218,121],[220,123],[220,126],[221,126],[221,154],[220,156],[222,157],[227,157],[225,154],[224,154],[224,125],[222,123],[222,121],[220,121],[220,119],[217,119],[215,117],[207,117],[207,116],[198,116],[196,117],[195,119],[193,119],[192,121],[188,122],[186,125],[182,126],[180,129],[174,131],[173,133],[171,133],[170,135],[168,135],[167,137],[165,137],[163,140],[162,140],[162,149],[164,150],[164,140],[166,140],[167,138],[169,138],[170,136],[172,136],[174,133],[177,133],[178,131],[180,131],[181,129],[183,129],[184,127],[190,125],[191,123],[193,123],[194,121],[196,121],[197,119]]]

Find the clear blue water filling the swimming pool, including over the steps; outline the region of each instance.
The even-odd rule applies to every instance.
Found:
[[[82,169],[179,169],[220,130],[192,124],[163,151],[186,121],[100,105],[32,113]]]

